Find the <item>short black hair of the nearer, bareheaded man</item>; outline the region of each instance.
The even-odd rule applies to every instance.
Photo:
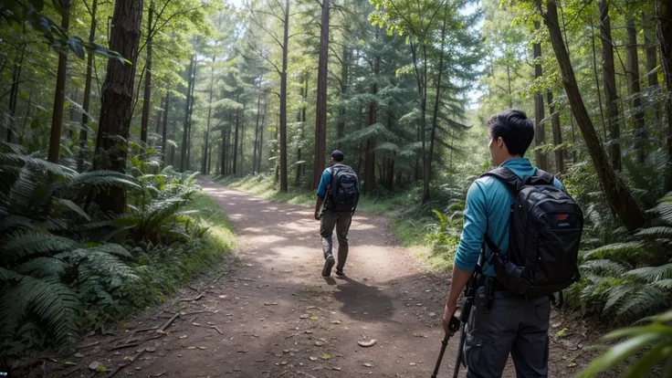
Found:
[[[522,110],[504,110],[490,117],[488,133],[493,140],[501,137],[511,155],[523,156],[534,139],[534,122]]]

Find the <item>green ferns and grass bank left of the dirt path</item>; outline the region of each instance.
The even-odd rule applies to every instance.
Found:
[[[10,151],[0,154],[4,356],[50,345],[71,352],[82,327],[100,329],[155,303],[231,247],[226,215],[213,224],[186,207],[197,194],[197,174],[148,173],[158,169],[151,154],[139,164],[146,172],[130,167],[134,177],[77,173],[12,152],[16,146],[0,147]],[[87,197],[115,186],[126,189],[135,205],[128,215],[110,219]]]

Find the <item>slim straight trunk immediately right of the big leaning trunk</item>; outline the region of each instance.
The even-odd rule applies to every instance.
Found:
[[[616,94],[616,70],[614,68],[614,43],[609,18],[609,3],[600,0],[600,35],[602,37],[602,76],[606,121],[609,129],[609,157],[616,171],[621,171],[621,129],[618,124],[618,95]]]

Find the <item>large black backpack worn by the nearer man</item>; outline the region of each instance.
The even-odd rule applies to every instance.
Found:
[[[583,212],[569,194],[553,185],[553,175],[537,170],[521,180],[509,168],[499,167],[483,176],[497,178],[516,197],[511,205],[507,255],[500,255],[499,247],[485,236],[499,282],[510,291],[534,298],[578,281]]]

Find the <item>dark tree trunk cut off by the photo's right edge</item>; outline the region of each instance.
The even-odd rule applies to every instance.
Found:
[[[669,0],[656,0],[656,34],[658,50],[660,51],[660,68],[663,71],[663,81],[667,91],[665,101],[665,117],[667,118],[666,149],[667,149],[667,176],[665,191],[672,191],[672,4]]]

